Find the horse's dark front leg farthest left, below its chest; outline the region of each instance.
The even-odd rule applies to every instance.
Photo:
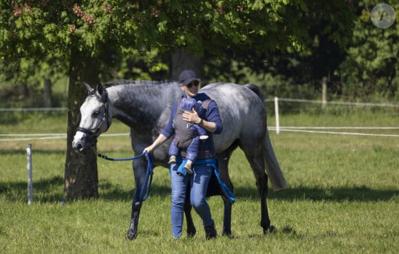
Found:
[[[134,180],[136,182],[136,189],[133,195],[133,202],[131,203],[131,219],[129,230],[127,231],[127,239],[134,240],[137,237],[138,232],[138,219],[140,217],[140,210],[142,206],[142,200],[140,193],[142,187],[145,184],[145,176],[147,170],[147,161],[144,158],[133,160],[133,173]]]

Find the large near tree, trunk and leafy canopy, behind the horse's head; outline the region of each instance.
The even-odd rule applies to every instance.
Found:
[[[350,3],[350,1],[349,1]],[[199,59],[208,52],[235,55],[302,50],[314,10],[332,21],[330,39],[345,42],[352,26],[349,3],[313,1],[184,0],[0,0],[0,56],[4,63],[52,56],[69,62],[65,197],[96,197],[96,156],[72,150],[83,103],[83,81],[95,84],[105,52],[132,50],[158,54],[184,50]],[[348,22],[349,21],[349,22]]]

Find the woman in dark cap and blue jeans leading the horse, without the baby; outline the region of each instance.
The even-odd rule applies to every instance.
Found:
[[[209,209],[206,202],[206,189],[213,173],[212,165],[215,165],[215,147],[211,134],[220,134],[222,132],[222,120],[220,120],[219,109],[215,101],[211,100],[206,94],[198,93],[200,80],[195,72],[184,70],[179,76],[179,82],[180,88],[184,91],[182,98],[195,98],[195,100],[201,100],[203,105],[207,105],[204,118],[200,118],[195,109],[193,109],[193,112],[184,111],[182,114],[177,114],[177,105],[180,101],[177,100],[173,106],[169,122],[161,131],[160,136],[144,151],[151,153],[153,149],[171,138],[173,134],[178,135],[178,133],[175,133],[173,123],[177,123],[181,119],[188,123],[200,125],[208,131],[209,138],[205,142],[200,142],[197,161],[193,164],[192,174],[177,174],[177,171],[181,171],[186,162],[186,153],[182,149],[180,149],[180,154],[177,156],[176,164],[169,166],[172,188],[171,219],[173,237],[178,239],[182,235],[184,200],[186,198],[186,189],[190,188],[191,204],[202,218],[205,237],[208,240],[217,236],[211,209]]]

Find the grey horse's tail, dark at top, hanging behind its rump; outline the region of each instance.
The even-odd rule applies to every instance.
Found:
[[[255,84],[247,84],[244,85],[252,92],[255,92],[262,101],[264,101],[263,90]],[[287,187],[287,183],[285,182],[285,178],[283,172],[280,169],[279,162],[277,161],[276,156],[274,155],[272,142],[270,142],[268,127],[266,126],[266,136],[265,136],[265,153],[263,157],[266,162],[266,171],[268,172],[268,176],[270,179],[270,183],[272,184],[272,188],[274,191],[279,191],[281,189],[285,189]]]

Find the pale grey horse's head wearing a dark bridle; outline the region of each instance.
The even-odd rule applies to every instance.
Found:
[[[107,90],[102,85],[93,89],[85,83],[85,87],[89,95],[80,106],[80,123],[72,141],[72,147],[79,152],[94,144],[111,126]]]

